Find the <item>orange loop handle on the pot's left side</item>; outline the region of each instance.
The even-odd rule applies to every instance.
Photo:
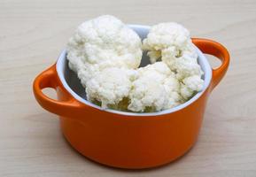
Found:
[[[60,89],[65,101],[58,101],[43,94],[42,89]],[[34,81],[33,91],[37,102],[47,111],[66,117],[74,117],[74,112],[80,107],[80,103],[63,88],[58,79],[56,65],[50,66],[40,73]]]

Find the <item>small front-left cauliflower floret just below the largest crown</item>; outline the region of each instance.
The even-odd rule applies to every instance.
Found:
[[[119,104],[121,100],[128,97],[132,81],[136,79],[136,73],[136,70],[116,67],[105,68],[95,73],[86,84],[88,100],[100,102],[103,108]]]

